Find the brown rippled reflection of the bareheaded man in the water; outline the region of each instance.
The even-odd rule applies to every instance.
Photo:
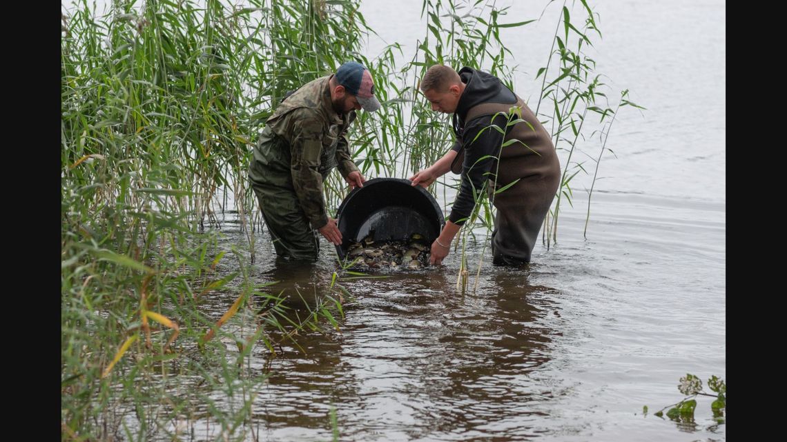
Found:
[[[426,402],[417,416],[421,436],[445,439],[527,435],[530,407],[549,398],[530,373],[549,361],[552,330],[543,326],[538,295],[527,272],[493,271],[477,298],[453,315],[421,371]],[[440,350],[442,348],[442,351]]]

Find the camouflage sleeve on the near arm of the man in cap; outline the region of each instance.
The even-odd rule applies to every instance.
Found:
[[[323,175],[318,170],[323,150],[323,129],[323,123],[316,117],[301,118],[294,121],[290,139],[293,187],[306,218],[315,229],[328,222],[323,199]]]

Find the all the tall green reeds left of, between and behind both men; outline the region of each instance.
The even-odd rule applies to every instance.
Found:
[[[337,268],[304,308],[249,277],[249,266],[271,258],[254,253],[262,221],[246,170],[275,103],[342,61],[370,68],[383,102],[381,112],[360,112],[350,134],[359,168],[405,177],[442,157],[453,136],[446,117],[419,96],[426,69],[470,65],[513,88],[513,54],[501,30],[554,21],[553,47],[538,70],[541,94],[529,103],[561,151],[563,179],[543,228],[547,247],[558,240],[560,212],[575,190],[589,187],[590,198],[616,112],[639,106],[627,91],[610,93],[595,72],[586,49],[601,34],[587,2],[515,21],[493,2],[424,0],[427,27],[416,56],[399,64],[399,42],[364,56],[364,39],[375,31],[359,6],[117,1],[98,16],[82,0],[64,10],[62,440],[179,440],[194,425],[226,440],[255,438],[255,392],[268,374],[252,370],[253,348],[264,346],[272,359],[285,342],[297,347],[297,333],[340,330],[350,296],[342,280],[360,275]],[[441,179],[429,190],[445,201],[457,185]],[[328,207],[335,210],[348,191],[333,174]],[[463,245],[475,237],[473,224],[491,229],[493,207],[478,194]],[[217,247],[216,206],[237,213],[248,249]],[[464,253],[462,263],[465,287]],[[226,307],[206,309],[209,298]],[[325,422],[338,440],[335,409]]]

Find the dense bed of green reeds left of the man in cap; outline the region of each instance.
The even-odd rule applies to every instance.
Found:
[[[336,67],[287,55],[335,53],[324,33],[353,34],[352,7],[323,20],[324,3],[253,5],[114,2],[98,17],[83,1],[64,16],[63,440],[175,437],[203,424],[242,439],[264,381],[250,370],[253,348],[275,355],[298,330],[342,319],[338,275],[301,315],[253,285],[248,250],[226,263],[216,233],[201,233],[216,205],[253,220],[242,178],[257,129],[284,91]],[[285,47],[293,35],[306,37]],[[204,306],[216,297],[227,300],[220,318]],[[189,378],[207,385],[186,388]]]

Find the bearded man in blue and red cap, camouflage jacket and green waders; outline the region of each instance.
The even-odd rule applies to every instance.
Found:
[[[315,230],[335,245],[342,243],[336,220],[327,215],[323,181],[338,168],[350,186],[364,186],[346,133],[355,111],[380,108],[374,89],[368,69],[349,61],[286,97],[265,123],[249,181],[278,256],[316,260]]]

